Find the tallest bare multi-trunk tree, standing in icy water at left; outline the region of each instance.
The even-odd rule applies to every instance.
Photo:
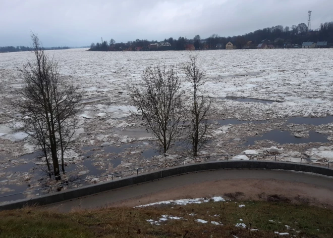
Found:
[[[58,63],[44,53],[37,35],[32,33],[31,38],[35,60],[20,69],[24,85],[12,101],[25,115],[16,130],[27,133],[42,150],[49,172],[49,158],[52,160],[54,177],[59,180],[59,154],[64,172],[64,154],[74,142],[82,96],[60,77]]]

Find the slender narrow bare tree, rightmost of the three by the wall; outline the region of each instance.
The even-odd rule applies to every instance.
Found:
[[[198,66],[197,58],[197,55],[190,55],[190,61],[184,64],[186,81],[192,86],[190,105],[186,106],[185,109],[189,112],[190,117],[190,125],[186,134],[192,145],[193,156],[197,156],[197,152],[207,142],[206,134],[209,127],[207,117],[212,103],[212,98],[205,97],[204,91],[201,89],[205,74]]]

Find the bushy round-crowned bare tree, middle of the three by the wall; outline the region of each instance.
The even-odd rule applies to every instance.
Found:
[[[173,65],[157,65],[145,69],[143,81],[143,86],[132,85],[131,99],[146,130],[158,138],[163,153],[167,153],[172,141],[183,132],[181,79]]]

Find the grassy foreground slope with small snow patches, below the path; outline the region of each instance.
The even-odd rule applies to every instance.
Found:
[[[245,207],[239,208],[240,204]],[[274,231],[288,232],[287,237],[333,237],[333,213],[318,207],[283,202],[209,202],[172,207],[107,208],[71,213],[38,208],[2,211],[0,237],[285,237]],[[191,213],[196,216],[190,216]],[[158,221],[162,214],[184,219],[169,219],[160,225],[146,221]],[[208,223],[199,223],[198,218]],[[224,225],[213,225],[211,221]],[[241,222],[247,228],[235,227]],[[254,228],[258,231],[250,230]]]

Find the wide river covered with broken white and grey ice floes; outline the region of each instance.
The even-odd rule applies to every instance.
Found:
[[[140,122],[130,115],[130,109],[134,108],[130,107],[128,84],[133,81],[140,83],[143,70],[157,63],[174,64],[181,73],[182,63],[188,60],[189,52],[88,52],[86,49],[72,49],[47,53],[59,61],[61,75],[79,85],[84,92],[79,145],[73,148],[67,159],[70,171],[92,176],[161,160],[153,150],[151,134],[145,132]],[[288,121],[294,117],[333,115],[332,49],[219,50],[192,54],[199,54],[199,65],[206,72],[204,88],[216,99],[213,105],[216,113],[210,118],[214,120],[210,132],[212,142],[202,149],[202,154],[235,154],[246,149],[281,147],[289,143],[284,145],[289,155],[304,156],[308,153],[310,157],[320,154],[322,158],[333,161],[333,148],[329,147],[333,119],[327,117],[322,123],[306,124],[302,124],[301,119],[299,122],[298,119],[296,122]],[[37,158],[21,157],[36,148],[29,144],[29,140],[22,141],[24,134],[12,133],[9,123],[13,116],[21,115],[4,101],[22,86],[17,67],[33,60],[33,57],[30,52],[0,54],[0,186],[5,183],[2,180],[9,178],[22,182],[25,177],[23,180],[29,181],[30,172],[34,169],[28,166],[29,163],[41,163]],[[189,84],[183,83],[183,88],[189,90]],[[231,125],[227,125],[229,123]],[[290,140],[287,140],[288,136],[284,137],[285,134],[280,137],[286,142],[269,138],[266,132],[275,133],[275,130],[287,131]],[[261,135],[268,136],[268,141],[250,144],[250,138],[259,140]],[[295,138],[300,140],[293,142]],[[101,148],[101,145],[105,147]],[[320,146],[326,148],[307,151]],[[176,149],[172,154],[178,154],[172,158],[185,156]],[[14,169],[22,165],[27,167]]]

